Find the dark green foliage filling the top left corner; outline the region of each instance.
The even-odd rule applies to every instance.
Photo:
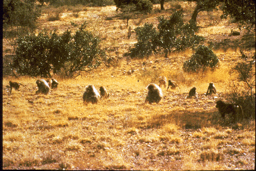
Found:
[[[40,10],[33,0],[3,0],[3,24],[7,26],[28,26],[35,28]]]

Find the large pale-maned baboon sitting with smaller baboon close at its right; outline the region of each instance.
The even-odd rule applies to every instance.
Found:
[[[83,102],[86,101],[86,103],[91,102],[92,104],[97,104],[99,98],[100,95],[99,92],[97,92],[95,86],[86,86],[86,91],[83,92]]]

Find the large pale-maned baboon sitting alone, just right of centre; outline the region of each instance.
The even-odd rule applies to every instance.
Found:
[[[159,88],[159,86],[157,86],[157,84],[155,83],[150,83],[148,86],[147,86],[147,97],[145,99],[145,103],[149,103],[149,104],[152,104],[152,103],[159,103],[159,101],[163,98],[163,93],[162,93],[162,90],[161,88]]]

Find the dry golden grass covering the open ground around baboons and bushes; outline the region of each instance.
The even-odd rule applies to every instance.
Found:
[[[191,17],[194,3],[179,3],[185,19]],[[167,10],[154,10],[150,15],[130,19],[135,29],[145,22],[157,24],[157,16],[170,15]],[[79,7],[81,8],[81,7]],[[160,8],[154,6],[154,8]],[[51,8],[45,8],[40,29],[71,28],[70,22],[88,21],[88,29],[103,38],[102,46],[110,56],[120,57],[136,42],[135,33],[127,39],[127,25],[118,17],[115,6],[102,8],[62,9],[59,19],[49,21]],[[77,15],[73,15],[73,12]],[[79,12],[78,12],[79,11]],[[221,20],[220,11],[201,12],[200,35],[221,41],[236,24]],[[240,35],[241,38],[243,32]],[[10,48],[3,40],[3,51]],[[118,49],[118,50],[117,50]],[[216,72],[205,76],[185,74],[184,60],[193,51],[151,56],[147,60],[119,60],[111,68],[101,67],[76,79],[61,80],[49,95],[35,95],[35,79],[3,78],[3,169],[65,170],[254,170],[255,120],[223,124],[215,108],[216,99],[225,99],[230,82],[228,74],[240,56],[236,49],[214,51],[221,60]],[[253,54],[255,50],[245,51]],[[129,62],[129,63],[127,63]],[[154,67],[154,69],[152,69]],[[135,72],[128,75],[129,70]],[[173,79],[181,88],[163,90],[159,104],[144,104],[150,82],[159,75]],[[23,83],[20,91],[10,94],[8,81]],[[218,95],[205,96],[209,82],[214,82]],[[97,90],[105,86],[109,99],[98,104],[83,104],[85,87]],[[168,85],[166,85],[168,86]],[[195,86],[198,99],[185,99]]]

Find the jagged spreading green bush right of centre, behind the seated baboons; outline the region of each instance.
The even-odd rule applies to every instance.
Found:
[[[162,50],[167,56],[171,51],[180,51],[189,47],[195,49],[204,38],[195,35],[198,27],[192,22],[184,24],[182,17],[182,11],[175,12],[169,19],[159,17],[158,30],[153,24],[148,23],[137,27],[135,31],[138,42],[125,56],[143,58]]]

